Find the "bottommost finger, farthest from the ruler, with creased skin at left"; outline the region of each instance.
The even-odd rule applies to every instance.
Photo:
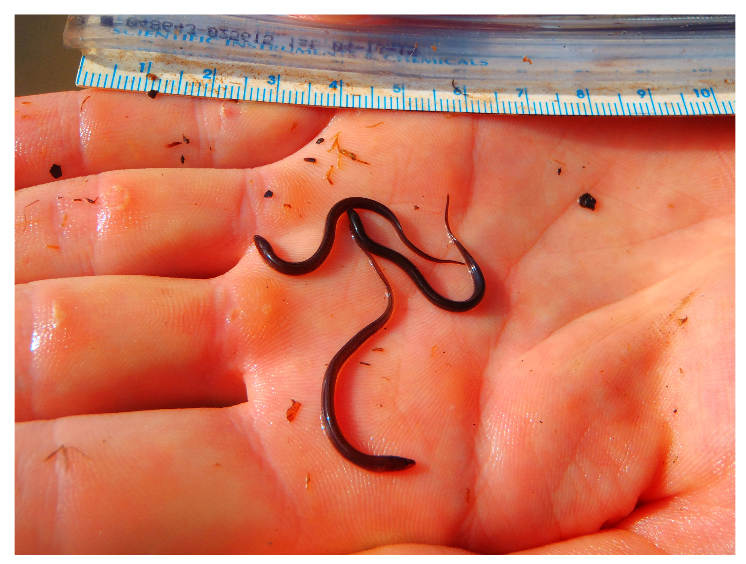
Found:
[[[21,424],[16,468],[18,553],[268,552],[291,545],[305,493],[224,410]]]

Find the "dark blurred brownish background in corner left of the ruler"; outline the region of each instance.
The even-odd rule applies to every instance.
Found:
[[[16,96],[80,90],[80,51],[62,46],[66,21],[66,15],[16,15]]]

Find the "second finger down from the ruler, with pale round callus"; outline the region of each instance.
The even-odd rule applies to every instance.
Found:
[[[260,175],[207,169],[115,171],[20,190],[16,282],[222,274],[254,235],[263,190]]]

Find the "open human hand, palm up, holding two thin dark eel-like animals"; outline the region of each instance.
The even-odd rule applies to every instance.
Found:
[[[16,100],[17,552],[734,552],[734,127]],[[457,259],[447,194],[487,292],[442,311],[379,261],[337,411],[417,464],[370,473],[319,412],[381,282],[346,218],[305,276],[252,237],[304,259],[366,196]]]

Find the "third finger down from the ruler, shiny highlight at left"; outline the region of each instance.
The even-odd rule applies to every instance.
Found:
[[[246,401],[221,296],[155,277],[17,286],[17,420]]]

